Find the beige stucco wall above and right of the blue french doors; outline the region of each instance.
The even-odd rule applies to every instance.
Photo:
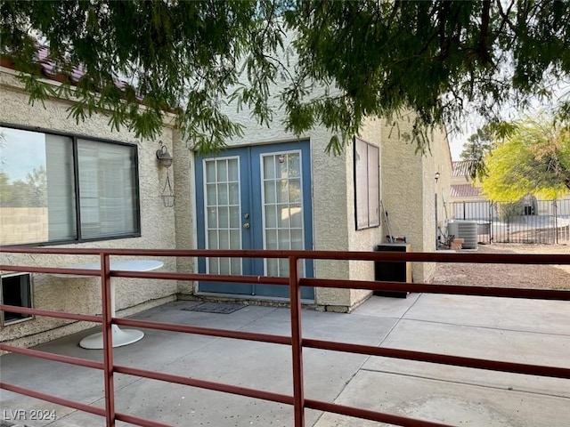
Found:
[[[244,137],[228,141],[230,147],[296,141],[281,125],[278,110],[270,128],[226,111],[233,120],[245,126]],[[449,194],[451,153],[444,129],[430,135],[430,147],[425,155],[416,153],[416,145],[406,143],[405,133],[411,133],[411,120],[400,123],[400,133],[386,119],[371,118],[362,126],[359,136],[378,146],[380,165],[380,199],[385,203],[392,234],[406,235],[417,252],[436,250],[436,191],[440,192],[438,222],[444,219],[441,192]],[[325,153],[331,134],[315,128],[301,135],[300,140],[311,143],[313,173],[314,249],[340,251],[371,251],[386,241],[386,223],[381,227],[356,230],[354,222],[354,149],[346,147],[341,156]],[[440,173],[436,183],[435,173]],[[428,281],[434,264],[413,265],[414,281]],[[373,262],[315,262],[317,278],[374,279]],[[325,310],[347,311],[371,295],[357,289],[318,288],[315,303]]]

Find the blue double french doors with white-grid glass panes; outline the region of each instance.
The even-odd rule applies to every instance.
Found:
[[[308,141],[226,149],[196,157],[200,249],[312,249],[311,158]],[[199,258],[199,272],[289,276],[286,259]],[[313,262],[302,264],[313,276]],[[288,297],[288,286],[199,282],[200,293]],[[313,288],[302,288],[314,299]]]

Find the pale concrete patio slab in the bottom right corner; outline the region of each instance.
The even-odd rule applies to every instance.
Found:
[[[408,375],[359,371],[336,400],[391,414],[450,425],[477,427],[563,427],[568,399]],[[346,416],[325,414],[315,427],[379,427]]]

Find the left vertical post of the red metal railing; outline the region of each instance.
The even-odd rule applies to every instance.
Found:
[[[102,284],[102,339],[103,385],[105,388],[105,420],[107,427],[115,427],[115,386],[113,384],[113,331],[110,294],[110,255],[101,254]]]

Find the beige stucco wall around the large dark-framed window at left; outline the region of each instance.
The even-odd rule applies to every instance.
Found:
[[[172,152],[173,144],[180,145],[179,136],[172,126],[165,126],[157,141],[140,141],[125,129],[112,131],[109,118],[95,115],[85,122],[76,123],[68,117],[69,103],[50,99],[45,108],[40,102],[28,103],[28,94],[23,92],[20,82],[8,68],[0,68],[0,122],[4,126],[26,126],[38,131],[70,133],[87,138],[122,141],[138,145],[139,194],[141,205],[141,230],[139,238],[100,240],[93,243],[60,245],[57,247],[85,248],[175,248],[175,209],[165,207],[159,197],[166,179],[166,169],[158,165],[156,150],[159,141]],[[26,149],[22,147],[22,156]],[[176,169],[174,166],[174,169]],[[172,168],[171,168],[172,169]],[[172,173],[172,171],[171,171]],[[183,180],[181,180],[183,182]],[[183,183],[180,187],[184,189]],[[176,186],[175,186],[176,189]],[[178,189],[177,189],[178,190]],[[182,197],[181,197],[182,198]],[[185,226],[185,224],[184,224]],[[183,226],[181,225],[183,228]],[[4,232],[4,230],[3,230]],[[25,255],[0,254],[3,263],[23,265],[49,265],[63,267],[76,262],[98,262],[97,257],[74,255]],[[124,259],[124,258],[122,258]],[[159,258],[155,258],[159,259]],[[175,260],[159,259],[165,262],[163,271],[175,271]],[[3,271],[4,273],[4,271]],[[175,299],[175,281],[140,280],[117,278],[116,302],[118,314],[126,316],[134,312],[157,306]],[[80,313],[101,313],[101,291],[99,281],[93,278],[55,278],[45,274],[33,274],[34,306],[37,309],[64,310]],[[65,327],[60,327],[68,325]],[[2,327],[0,341],[15,345],[30,346],[77,332],[90,325],[57,318],[34,318]]]

